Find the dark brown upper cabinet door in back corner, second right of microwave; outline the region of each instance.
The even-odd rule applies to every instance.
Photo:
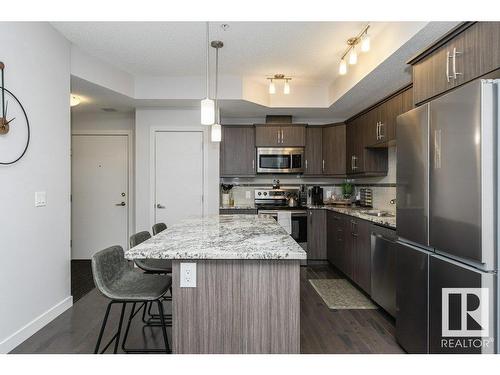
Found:
[[[323,128],[323,175],[342,176],[346,168],[346,127],[344,123]]]

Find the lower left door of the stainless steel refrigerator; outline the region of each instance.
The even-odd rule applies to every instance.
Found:
[[[429,352],[429,253],[396,243],[396,339],[408,352]]]

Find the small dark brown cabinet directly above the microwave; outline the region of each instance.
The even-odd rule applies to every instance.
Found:
[[[304,124],[255,125],[257,147],[304,147],[306,126]]]

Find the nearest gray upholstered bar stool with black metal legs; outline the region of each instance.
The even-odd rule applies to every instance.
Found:
[[[115,343],[113,352],[117,352],[123,325],[123,316],[125,314],[125,307],[128,303],[132,304],[132,310],[130,312],[127,329],[123,337],[123,351],[127,353],[170,353],[166,330],[167,325],[164,319],[161,299],[170,289],[172,285],[172,278],[167,275],[147,274],[134,269],[125,259],[121,246],[111,246],[94,254],[92,257],[92,274],[95,285],[99,291],[110,299],[94,353],[99,353],[102,336],[106,328],[111,306],[119,303],[122,304],[122,308],[118,329],[100,353],[104,353],[113,342]],[[136,310],[135,307],[137,303],[142,303],[142,305]],[[162,329],[165,349],[127,349],[125,347],[125,342],[130,329],[130,323],[141,308],[146,309],[147,303],[156,303],[158,306],[158,325]]]

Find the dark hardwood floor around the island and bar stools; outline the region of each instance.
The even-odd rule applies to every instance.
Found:
[[[382,310],[330,310],[307,281],[338,277],[329,265],[301,267],[301,352],[403,353],[394,339],[394,322]],[[106,298],[92,289],[12,353],[93,353],[106,305]],[[114,334],[119,309],[112,309],[103,343]],[[144,328],[134,319],[128,346],[162,348],[161,340],[160,329]]]

